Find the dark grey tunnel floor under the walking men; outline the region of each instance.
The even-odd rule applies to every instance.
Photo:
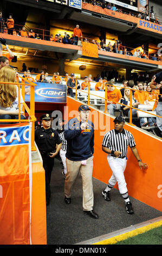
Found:
[[[131,198],[134,215],[128,215],[119,191],[111,191],[111,202],[106,202],[101,192],[105,184],[93,178],[94,210],[99,214],[95,220],[82,211],[82,179],[78,176],[72,191],[72,203],[64,203],[64,178],[61,161],[55,159],[51,175],[51,200],[47,206],[47,244],[74,245],[103,236],[138,223],[160,217],[160,211]]]

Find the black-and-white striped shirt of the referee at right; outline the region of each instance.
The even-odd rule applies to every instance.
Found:
[[[127,155],[127,148],[135,147],[135,141],[131,132],[122,130],[118,132],[115,129],[107,132],[103,137],[102,146],[110,150],[120,151],[120,157]]]

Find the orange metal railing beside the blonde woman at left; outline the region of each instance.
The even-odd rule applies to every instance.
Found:
[[[18,86],[18,119],[16,119],[16,123],[32,123],[32,127],[31,127],[31,151],[35,151],[35,144],[34,144],[34,140],[35,140],[35,121],[36,121],[36,117],[35,117],[35,86],[36,84],[27,80],[24,77],[18,76],[20,78],[22,78],[23,80],[25,80],[26,82],[28,82],[28,84],[25,83],[10,83],[10,82],[0,82],[0,84],[16,84],[16,86]],[[27,111],[29,118],[28,119],[21,119],[21,107],[20,107],[20,87],[22,86],[22,97],[23,97],[23,113],[25,113],[25,111]],[[30,108],[27,106],[27,104],[25,103],[25,86],[30,86]],[[0,125],[1,122],[3,123],[15,123],[15,119],[0,119]]]

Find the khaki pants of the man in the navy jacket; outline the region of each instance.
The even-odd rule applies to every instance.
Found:
[[[91,211],[93,209],[93,184],[92,184],[92,172],[93,172],[93,156],[87,159],[87,164],[81,164],[81,161],[70,161],[66,159],[67,174],[64,184],[64,194],[66,197],[71,197],[71,188],[74,182],[81,172],[82,184],[83,184],[83,211]]]

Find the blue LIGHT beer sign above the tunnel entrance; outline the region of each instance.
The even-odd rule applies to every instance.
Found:
[[[66,103],[66,84],[36,83],[35,102]],[[25,87],[27,88],[27,87]],[[25,94],[25,101],[30,101],[30,94]]]

